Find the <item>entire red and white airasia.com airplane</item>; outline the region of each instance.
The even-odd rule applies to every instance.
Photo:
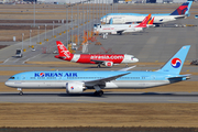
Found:
[[[100,65],[112,67],[139,62],[133,55],[127,54],[72,54],[61,41],[56,41],[56,44],[59,53],[55,56],[56,58],[81,64],[98,64],[98,68]]]

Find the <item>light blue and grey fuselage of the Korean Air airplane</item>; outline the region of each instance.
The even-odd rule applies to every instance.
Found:
[[[179,75],[169,75],[161,72],[26,72],[16,74],[6,85],[14,88],[59,88],[66,87],[67,82],[84,82],[87,88],[92,80],[128,74],[114,80],[105,82],[102,88],[148,88],[186,80]]]

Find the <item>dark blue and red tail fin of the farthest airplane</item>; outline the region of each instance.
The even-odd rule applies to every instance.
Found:
[[[183,15],[188,14],[188,11],[190,10],[193,1],[184,2],[180,7],[178,7],[174,12],[172,12],[169,15]]]

